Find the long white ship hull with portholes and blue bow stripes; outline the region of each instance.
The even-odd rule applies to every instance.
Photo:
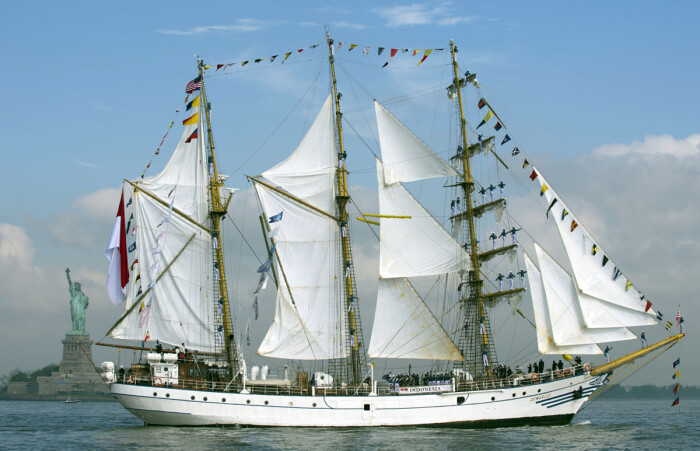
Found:
[[[567,424],[606,375],[443,394],[296,396],[114,383],[115,398],[147,424],[359,427]],[[582,387],[583,396],[574,398]],[[460,404],[461,401],[461,404]]]

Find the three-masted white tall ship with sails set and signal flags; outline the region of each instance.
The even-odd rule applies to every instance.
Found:
[[[615,382],[614,370],[683,337],[612,361],[606,351],[605,364],[587,360],[604,360],[603,345],[637,338],[630,328],[651,327],[661,315],[537,167],[528,167],[529,178],[543,217],[554,223],[537,233],[511,216],[498,172],[475,171],[508,166],[496,137],[465,119],[463,96],[479,84],[458,65],[452,42],[444,49],[453,74],[443,87],[454,116],[445,126],[452,134],[447,157],[375,100],[378,212],[353,217],[339,46],[328,35],[326,46],[328,97],[308,132],[286,159],[247,176],[267,248],[257,270],[256,318],[258,293],[276,287],[257,354],[279,369],[247,363],[246,331],[234,320],[222,218],[236,214],[229,211],[235,190],[217,167],[204,62],[188,84],[187,118],[164,169],[124,180],[107,250],[108,292],[123,311],[99,344],[133,350],[127,368],[103,364],[112,394],[129,412],[147,424],[182,426],[567,424]],[[484,104],[488,122],[495,113],[483,98],[479,109]],[[450,199],[444,217],[412,194],[430,180]],[[362,305],[375,309],[368,342],[353,259],[358,226],[379,239],[376,303]],[[532,238],[548,234],[559,235],[567,267]],[[437,307],[426,301],[438,295]],[[531,301],[533,319],[521,299]],[[534,326],[536,356],[499,359],[496,340],[510,332],[495,325],[493,312],[503,305]],[[408,371],[381,374],[387,361]]]

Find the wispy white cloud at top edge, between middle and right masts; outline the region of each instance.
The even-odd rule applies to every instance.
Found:
[[[459,23],[470,23],[478,16],[456,16],[449,4],[432,6],[427,3],[412,3],[410,5],[375,8],[372,12],[384,18],[389,27],[437,24],[453,26]]]

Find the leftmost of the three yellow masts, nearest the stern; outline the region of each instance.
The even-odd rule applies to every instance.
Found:
[[[226,288],[226,271],[224,267],[224,253],[222,249],[223,239],[221,236],[221,218],[226,215],[228,211],[228,204],[231,201],[231,197],[228,198],[226,203],[222,203],[221,200],[221,188],[223,188],[224,183],[219,179],[219,172],[216,167],[216,156],[214,154],[214,137],[211,132],[211,121],[209,116],[209,102],[207,101],[206,91],[204,89],[204,61],[198,59],[197,67],[199,69],[199,77],[202,82],[202,108],[204,109],[204,117],[207,123],[207,137],[209,139],[209,158],[211,158],[211,165],[213,167],[213,176],[209,178],[209,195],[211,199],[209,216],[211,218],[211,231],[212,236],[218,237],[218,245],[214,249],[214,263],[215,267],[218,265],[219,270],[219,298],[223,301],[223,326],[224,326],[224,343],[226,350],[226,357],[231,365],[231,370],[235,374],[238,370],[237,362],[238,356],[236,353],[236,343],[235,337],[233,335],[233,326],[231,324],[231,308],[229,305],[228,290]],[[216,294],[216,290],[215,290]],[[216,296],[214,296],[216,299]],[[214,301],[216,302],[216,301]]]

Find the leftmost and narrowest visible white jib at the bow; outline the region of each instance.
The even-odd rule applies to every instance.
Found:
[[[530,296],[532,297],[532,310],[535,315],[537,328],[537,349],[541,354],[602,354],[603,351],[596,344],[582,344],[558,346],[554,343],[552,323],[547,308],[547,299],[542,284],[542,275],[527,254],[525,257],[525,267],[527,268],[527,278],[530,282]]]

